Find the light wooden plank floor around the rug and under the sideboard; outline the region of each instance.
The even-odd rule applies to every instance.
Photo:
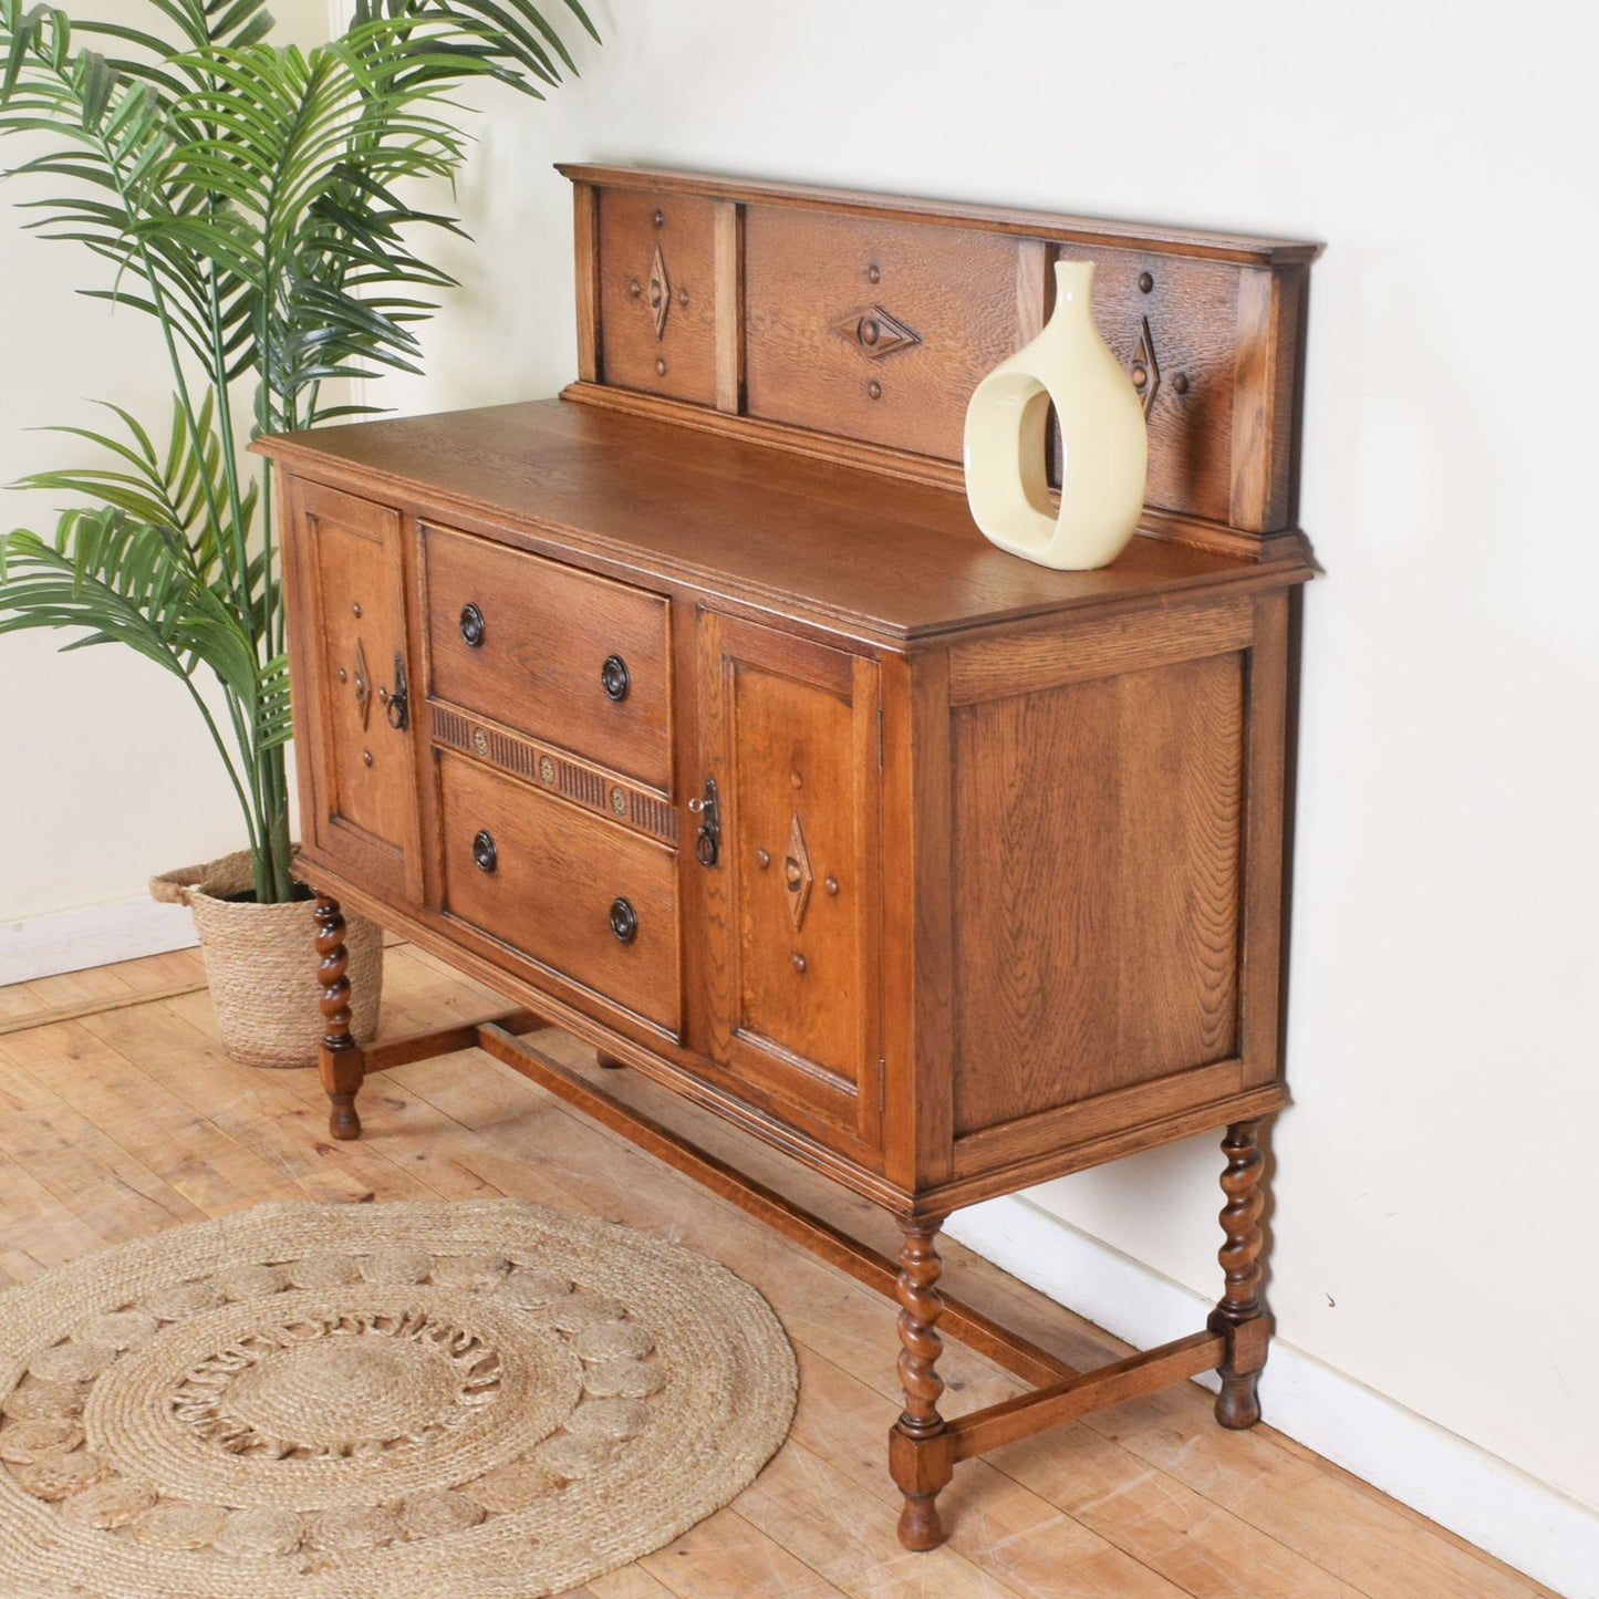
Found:
[[[389,950],[387,983],[385,1035],[504,1009],[408,945]],[[555,1030],[534,1043],[592,1062]],[[633,1073],[609,1073],[606,1087],[660,1119],[691,1115]],[[360,1143],[326,1137],[325,1107],[313,1071],[253,1071],[221,1054],[193,951],[0,988],[0,1287],[161,1226],[293,1198],[518,1194],[715,1255],[766,1294],[793,1338],[793,1433],[731,1506],[574,1599],[1557,1599],[1270,1428],[1222,1431],[1193,1385],[963,1465],[942,1500],[948,1545],[907,1554],[884,1463],[899,1398],[886,1300],[478,1051],[371,1078]],[[696,1132],[897,1247],[870,1206],[736,1132]],[[1073,1364],[1126,1353],[958,1244],[943,1254],[953,1292]],[[955,1343],[940,1370],[951,1414],[1017,1391]]]

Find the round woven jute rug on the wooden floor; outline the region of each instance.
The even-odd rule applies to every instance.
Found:
[[[784,1441],[726,1268],[516,1199],[270,1204],[0,1294],[5,1599],[534,1599]]]

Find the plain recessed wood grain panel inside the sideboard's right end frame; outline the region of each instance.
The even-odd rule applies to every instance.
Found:
[[[1231,1054],[1242,657],[958,710],[958,1134]]]

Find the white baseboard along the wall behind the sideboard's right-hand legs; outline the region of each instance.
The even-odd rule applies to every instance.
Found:
[[[961,1210],[948,1231],[1140,1350],[1202,1327],[1210,1308],[1020,1196]],[[1599,1599],[1599,1513],[1282,1340],[1271,1345],[1260,1402],[1279,1433],[1535,1581]]]

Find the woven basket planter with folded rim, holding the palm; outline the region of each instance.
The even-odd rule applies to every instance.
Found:
[[[312,916],[317,902],[257,905],[227,897],[248,891],[253,881],[249,855],[240,851],[150,878],[150,894],[193,911],[229,1057],[246,1067],[313,1067],[323,1033]],[[384,934],[377,923],[352,911],[344,919],[352,1031],[365,1044],[377,1031]]]

